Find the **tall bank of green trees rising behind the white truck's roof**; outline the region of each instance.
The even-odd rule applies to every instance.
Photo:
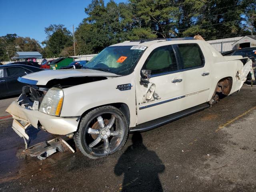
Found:
[[[91,54],[125,40],[186,37],[206,40],[241,36],[255,26],[250,0],[92,0],[76,30],[79,54]],[[244,19],[247,18],[247,19]],[[246,21],[246,24],[244,24]],[[255,27],[254,27],[255,28]]]

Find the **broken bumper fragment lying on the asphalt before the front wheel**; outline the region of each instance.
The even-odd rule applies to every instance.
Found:
[[[64,152],[68,150],[71,150],[73,153],[75,152],[65,140],[62,138],[55,138],[50,141],[45,141],[31,146],[24,150],[23,153],[29,154],[32,157],[37,157],[40,160],[45,160],[57,151]]]

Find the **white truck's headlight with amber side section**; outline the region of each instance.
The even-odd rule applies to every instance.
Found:
[[[40,104],[39,111],[53,116],[60,116],[64,93],[62,89],[50,88]]]

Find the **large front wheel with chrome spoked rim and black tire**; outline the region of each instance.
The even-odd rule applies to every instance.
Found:
[[[117,152],[124,146],[127,138],[127,119],[122,111],[114,106],[102,106],[88,112],[81,119],[74,135],[76,146],[82,154],[92,159]]]

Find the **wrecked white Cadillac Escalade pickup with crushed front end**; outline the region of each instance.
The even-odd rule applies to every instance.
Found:
[[[74,138],[85,156],[100,158],[120,150],[129,132],[156,128],[239,91],[250,70],[252,60],[222,56],[204,40],[127,41],[105,48],[86,68],[20,77],[26,91],[6,111],[20,136],[28,139],[24,130],[32,124]]]

